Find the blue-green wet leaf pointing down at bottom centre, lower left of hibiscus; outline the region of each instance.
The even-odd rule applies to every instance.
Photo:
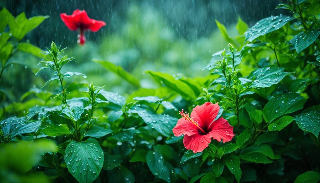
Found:
[[[154,176],[170,183],[170,170],[164,163],[163,155],[160,152],[149,151],[147,164]]]

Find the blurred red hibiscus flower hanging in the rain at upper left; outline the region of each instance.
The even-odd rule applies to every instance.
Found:
[[[78,35],[78,43],[80,45],[84,45],[85,43],[84,31],[91,30],[92,32],[97,32],[102,26],[106,25],[104,21],[89,18],[87,12],[79,9],[75,10],[72,15],[61,13],[60,17],[68,29],[80,30],[80,34]]]

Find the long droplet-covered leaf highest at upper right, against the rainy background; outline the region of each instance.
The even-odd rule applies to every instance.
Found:
[[[284,15],[271,16],[258,21],[254,26],[248,29],[244,35],[246,41],[253,41],[256,38],[268,34],[269,32],[280,29],[287,22],[294,20],[293,17]]]

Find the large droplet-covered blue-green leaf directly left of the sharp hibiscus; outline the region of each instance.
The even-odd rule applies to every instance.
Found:
[[[149,113],[146,110],[130,110],[130,113],[137,113],[149,127],[166,137],[172,136],[172,129],[178,121],[169,115]]]

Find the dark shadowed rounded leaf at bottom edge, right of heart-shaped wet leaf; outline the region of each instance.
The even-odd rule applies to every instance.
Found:
[[[134,183],[135,178],[130,170],[120,165],[108,173],[108,182]]]

